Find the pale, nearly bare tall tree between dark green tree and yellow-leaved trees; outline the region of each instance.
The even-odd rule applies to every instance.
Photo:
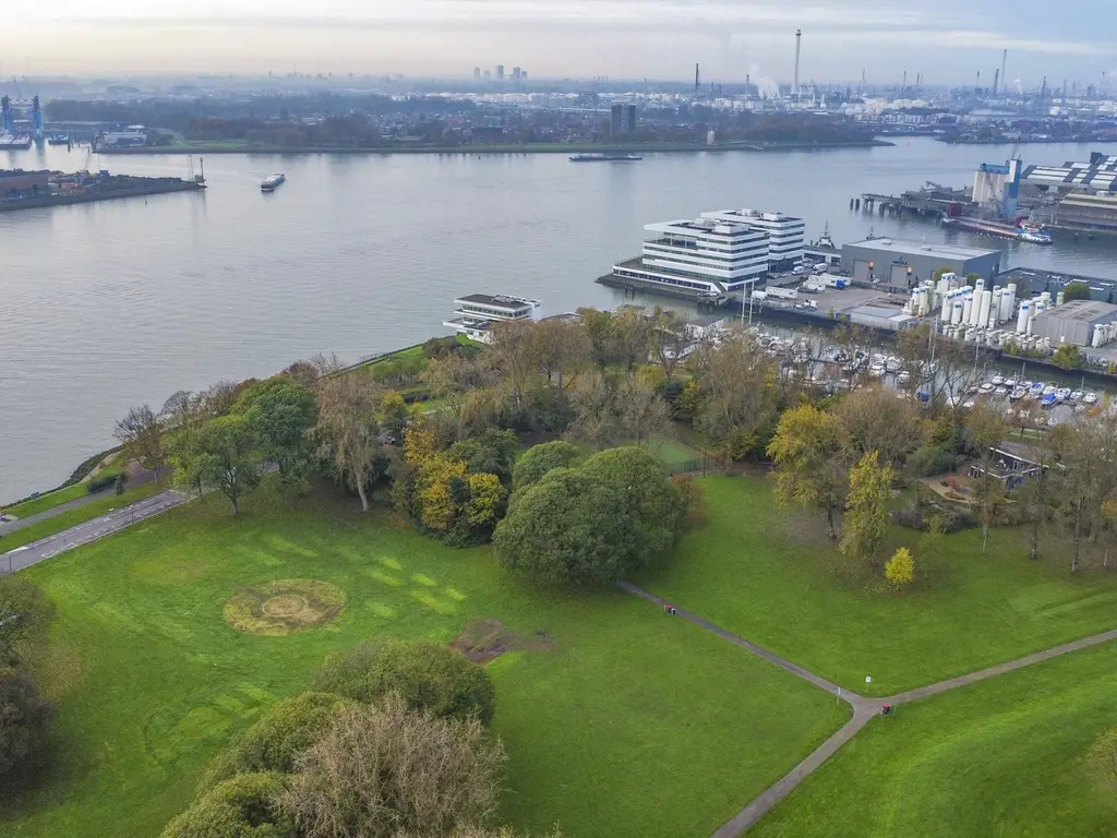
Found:
[[[382,448],[376,422],[380,388],[369,375],[343,373],[319,379],[317,394],[318,423],[313,435],[319,454],[334,464],[367,512],[365,487],[375,477]]]

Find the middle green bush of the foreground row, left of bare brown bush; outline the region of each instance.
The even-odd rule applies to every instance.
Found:
[[[292,771],[295,756],[314,744],[330,720],[347,704],[342,696],[330,693],[303,693],[276,702],[214,758],[202,777],[201,788],[236,774]]]

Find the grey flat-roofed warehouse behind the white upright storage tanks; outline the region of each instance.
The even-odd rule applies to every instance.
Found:
[[[933,278],[939,268],[992,282],[1001,270],[1001,258],[1000,250],[891,238],[855,241],[841,249],[842,270],[855,280],[901,289]]]

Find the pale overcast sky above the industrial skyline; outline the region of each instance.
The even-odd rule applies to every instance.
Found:
[[[4,75],[404,73],[992,84],[1117,73],[1117,0],[2,0]]]

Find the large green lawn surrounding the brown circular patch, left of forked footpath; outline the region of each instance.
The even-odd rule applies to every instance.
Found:
[[[570,836],[708,836],[846,718],[798,678],[619,592],[532,593],[490,551],[455,551],[351,502],[192,503],[27,571],[57,603],[47,685],[57,775],[0,811],[6,836],[151,838],[206,762],[330,651],[449,640],[475,617],[546,631],[489,664],[509,753],[504,819]],[[286,578],[341,585],[334,623],[232,630],[222,606]]]

